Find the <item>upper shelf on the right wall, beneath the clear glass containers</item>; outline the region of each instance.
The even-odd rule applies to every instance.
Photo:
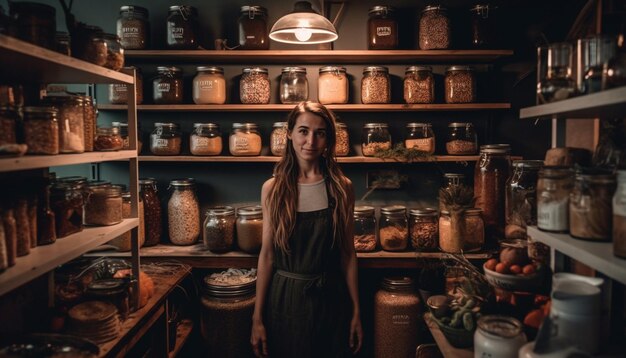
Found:
[[[626,86],[522,108],[520,118],[622,118],[624,113],[626,113]]]

